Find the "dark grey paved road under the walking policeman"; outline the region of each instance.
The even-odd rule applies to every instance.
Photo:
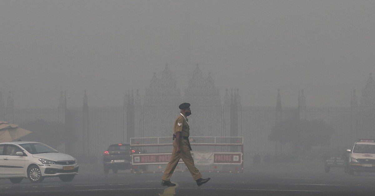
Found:
[[[161,174],[81,173],[72,182],[46,178],[32,184],[0,180],[1,195],[374,195],[375,174],[349,176],[341,172],[321,174],[204,173],[211,180],[196,186],[190,174],[175,174],[176,187],[160,186]]]

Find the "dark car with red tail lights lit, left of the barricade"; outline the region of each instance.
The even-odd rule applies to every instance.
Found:
[[[117,170],[130,169],[131,152],[130,144],[110,145],[103,155],[104,173],[108,174],[110,169],[114,174]]]

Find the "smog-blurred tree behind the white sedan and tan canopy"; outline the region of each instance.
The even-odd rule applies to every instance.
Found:
[[[39,119],[24,123],[21,127],[33,132],[22,137],[22,141],[41,142],[52,148],[56,148],[65,142],[71,143],[75,138],[71,133],[67,134],[66,127],[63,123],[47,122]]]

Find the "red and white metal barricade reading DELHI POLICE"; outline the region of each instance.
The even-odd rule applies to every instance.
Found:
[[[201,172],[243,172],[243,137],[189,137],[194,163]],[[132,173],[165,171],[172,137],[130,138]],[[189,171],[182,159],[175,172]]]

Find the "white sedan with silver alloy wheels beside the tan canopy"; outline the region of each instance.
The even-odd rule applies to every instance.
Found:
[[[78,174],[77,160],[39,142],[0,143],[0,178],[20,183],[28,178],[40,183],[45,177],[72,181]]]

